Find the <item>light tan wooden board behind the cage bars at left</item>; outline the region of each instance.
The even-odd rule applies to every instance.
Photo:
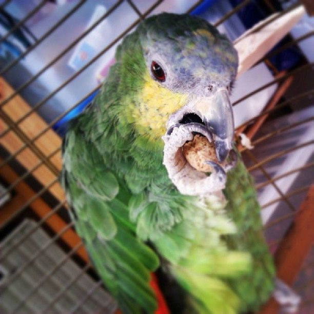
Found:
[[[0,77],[0,102],[4,101],[13,94],[12,87]],[[10,119],[14,122],[21,119],[23,116],[31,111],[31,107],[24,101],[24,99],[16,95],[9,102],[7,102],[2,110],[10,116]],[[23,122],[18,124],[18,128],[27,136],[29,140],[35,138],[37,134],[47,129],[40,138],[34,141],[34,145],[41,150],[43,155],[48,156],[61,146],[61,138],[51,128],[47,128],[47,123],[42,119],[37,112],[32,112]],[[10,153],[14,154],[25,143],[17,136],[17,134],[10,130],[5,135],[2,135],[4,131],[8,129],[8,125],[3,119],[0,119],[0,144]],[[15,158],[26,170],[31,170],[41,160],[34,154],[29,148],[25,148],[21,153],[17,154]],[[49,162],[58,170],[61,170],[61,154],[60,151],[54,154]],[[53,179],[56,178],[56,174],[42,164],[32,175],[43,186],[48,185]],[[58,200],[64,200],[64,192],[59,184],[54,184],[48,191]]]

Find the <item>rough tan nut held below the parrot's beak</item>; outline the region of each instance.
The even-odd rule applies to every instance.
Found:
[[[196,134],[192,141],[183,145],[182,150],[187,162],[198,171],[213,171],[212,167],[205,163],[206,161],[220,164],[217,160],[214,143],[208,142],[205,136]]]

